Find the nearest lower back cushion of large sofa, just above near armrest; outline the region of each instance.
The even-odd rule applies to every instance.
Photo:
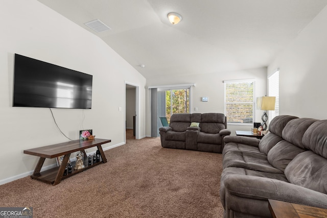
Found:
[[[327,194],[327,160],[312,151],[297,155],[285,168],[293,184]]]

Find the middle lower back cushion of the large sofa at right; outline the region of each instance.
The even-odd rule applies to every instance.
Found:
[[[284,172],[289,162],[303,151],[305,150],[294,146],[294,144],[286,140],[282,140],[268,152],[267,157],[272,166]]]

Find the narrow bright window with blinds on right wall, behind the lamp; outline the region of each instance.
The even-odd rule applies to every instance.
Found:
[[[268,78],[268,94],[276,97],[275,110],[268,112],[268,122],[279,115],[279,69]]]

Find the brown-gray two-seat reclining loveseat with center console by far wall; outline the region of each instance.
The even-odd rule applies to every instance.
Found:
[[[230,135],[226,128],[227,120],[222,113],[176,113],[169,127],[159,128],[161,146],[221,153],[223,138]]]

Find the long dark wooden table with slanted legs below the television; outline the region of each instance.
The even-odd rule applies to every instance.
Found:
[[[95,138],[95,139],[87,139],[87,140],[74,140],[74,141],[68,141],[68,142],[63,142],[59,144],[53,144],[52,146],[44,146],[40,148],[35,148],[35,149],[29,149],[25,150],[24,154],[30,154],[34,156],[38,156],[39,161],[34,169],[33,174],[31,175],[32,179],[37,179],[42,182],[47,182],[53,185],[57,185],[60,183],[62,179],[65,179],[67,177],[73,176],[77,173],[85,171],[85,169],[88,169],[90,167],[96,166],[101,163],[106,163],[107,159],[104,155],[104,152],[102,150],[101,145],[111,142],[109,139],[100,139],[100,138]],[[98,150],[100,151],[102,161],[92,164],[88,166],[87,164],[87,157],[85,153],[85,149],[92,148],[92,147],[98,147]],[[65,171],[65,167],[67,166],[69,157],[73,152],[81,151],[84,153],[84,169],[80,169],[79,171],[75,171],[73,169],[71,174],[63,175]],[[60,166],[51,168],[47,171],[41,171],[42,165],[44,163],[45,158],[56,158],[63,156],[64,158],[61,162]],[[73,166],[74,168],[74,166]]]

